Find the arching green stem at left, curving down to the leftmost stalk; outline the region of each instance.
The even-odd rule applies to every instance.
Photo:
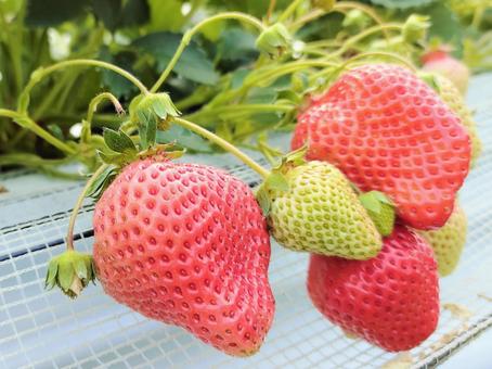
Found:
[[[111,63],[102,62],[102,61],[96,61],[96,60],[75,59],[75,60],[60,62],[60,63],[53,64],[51,66],[48,66],[46,68],[35,71],[30,77],[29,82],[24,88],[23,92],[21,93],[21,97],[18,99],[17,110],[22,113],[27,112],[27,107],[29,105],[30,90],[33,90],[33,88],[46,76],[48,76],[51,73],[54,73],[59,69],[68,67],[68,66],[95,66],[95,67],[101,67],[101,68],[113,71],[113,72],[119,74],[121,77],[127,78],[133,85],[135,85],[143,94],[148,93],[148,90],[146,89],[146,87],[135,76],[133,76],[131,73],[120,68],[119,66],[116,66]]]

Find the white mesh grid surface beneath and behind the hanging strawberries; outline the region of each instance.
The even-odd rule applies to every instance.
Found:
[[[441,280],[441,302],[466,307],[466,321],[443,309],[438,330],[413,349],[415,367],[433,366],[492,325],[492,105],[476,116],[484,152],[461,194],[469,218],[467,245],[457,270]],[[286,139],[283,145],[287,145]],[[258,177],[225,155],[193,157],[222,166],[256,183]],[[12,175],[10,175],[12,177]],[[89,287],[75,302],[43,291],[48,260],[62,252],[69,209],[80,190],[67,183],[0,201],[0,368],[167,367],[380,367],[394,357],[344,336],[311,305],[305,282],[308,256],[274,244],[270,281],[276,300],[273,327],[261,351],[246,359],[228,357],[184,330],[148,320]],[[31,211],[33,209],[33,211]],[[92,245],[92,205],[76,227],[76,247]]]

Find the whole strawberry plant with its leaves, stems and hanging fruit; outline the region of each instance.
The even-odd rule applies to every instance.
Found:
[[[13,92],[2,92],[0,109],[0,165],[74,176],[63,165],[81,163],[91,174],[67,251],[48,266],[48,289],[75,298],[98,279],[148,318],[225,354],[253,355],[274,315],[272,236],[312,254],[311,300],[345,331],[388,351],[432,333],[436,257],[441,263],[449,250],[444,263],[454,267],[463,245],[456,237],[459,245],[442,247],[431,232],[452,232],[457,191],[480,153],[459,93],[441,76],[417,74],[448,5],[50,3],[57,11],[34,0],[12,10],[5,29],[30,35],[44,59],[24,68],[18,44],[2,38]],[[65,31],[90,48],[55,62],[40,29],[18,31],[23,22],[56,26],[56,37]],[[269,145],[269,135],[290,130],[293,152]],[[242,148],[263,153],[271,168]],[[235,155],[261,183],[254,193],[218,168],[176,162],[186,150]],[[88,196],[95,201],[91,255],[74,245]]]

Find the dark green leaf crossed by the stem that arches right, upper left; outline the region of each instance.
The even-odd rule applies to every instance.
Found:
[[[165,69],[181,41],[182,35],[168,31],[145,35],[133,41],[133,46],[150,53],[157,60],[158,69]],[[184,50],[174,72],[184,78],[204,84],[215,85],[219,81],[212,62],[195,41]]]

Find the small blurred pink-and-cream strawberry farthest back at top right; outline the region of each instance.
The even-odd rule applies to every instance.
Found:
[[[463,62],[453,58],[446,48],[429,51],[422,56],[425,72],[438,73],[453,82],[461,94],[468,89],[469,69]]]

